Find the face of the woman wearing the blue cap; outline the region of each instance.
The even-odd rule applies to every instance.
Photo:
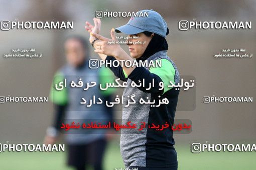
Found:
[[[134,35],[138,36],[138,38],[133,38]],[[134,58],[139,58],[146,50],[150,40],[153,37],[153,34],[151,36],[147,36],[145,33],[141,32],[134,35],[129,35],[129,37],[131,38],[129,38],[128,40],[132,41],[133,43],[127,43],[127,45],[129,45],[131,56]],[[142,43],[136,43],[138,41]]]

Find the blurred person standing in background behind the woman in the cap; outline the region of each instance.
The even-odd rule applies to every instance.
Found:
[[[88,120],[104,119],[112,121],[112,107],[106,107],[104,104],[97,104],[94,108],[86,107],[80,104],[81,98],[92,98],[93,95],[99,96],[103,100],[111,97],[113,90],[99,90],[94,87],[86,91],[82,88],[67,87],[62,90],[56,90],[55,84],[66,78],[67,82],[78,81],[82,78],[83,82],[96,81],[97,84],[105,83],[111,75],[109,69],[101,67],[100,69],[89,68],[89,49],[87,41],[81,36],[71,36],[65,41],[65,53],[67,64],[59,69],[53,80],[50,91],[50,98],[55,108],[55,119],[52,126],[48,127],[44,138],[45,144],[56,142],[63,120]],[[110,74],[109,74],[110,73]],[[70,123],[70,121],[69,121]],[[81,124],[81,123],[80,123]],[[111,134],[102,129],[92,129],[85,133],[75,132],[70,129],[65,133],[65,141],[68,146],[68,165],[77,170],[85,169],[87,164],[94,167],[95,170],[102,168],[103,153],[106,148],[107,138]]]

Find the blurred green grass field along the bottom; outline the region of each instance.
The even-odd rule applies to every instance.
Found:
[[[202,152],[192,153],[190,145],[176,144],[178,169],[256,169],[256,152]],[[1,152],[0,169],[73,169],[66,166],[65,152]],[[124,168],[119,143],[108,144],[105,169]]]

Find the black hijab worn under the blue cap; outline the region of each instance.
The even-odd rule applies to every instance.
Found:
[[[150,31],[144,31],[143,33],[145,33],[147,36],[150,36],[153,32]],[[166,35],[168,35],[169,33],[169,29],[167,28],[167,32]],[[142,54],[142,56],[140,58],[137,58],[136,60],[146,60],[148,57],[150,57],[151,55],[153,55],[154,53],[161,51],[161,50],[167,50],[168,49],[168,43],[166,41],[166,39],[159,35],[154,33],[152,39],[150,40],[147,48],[145,49],[144,53]]]

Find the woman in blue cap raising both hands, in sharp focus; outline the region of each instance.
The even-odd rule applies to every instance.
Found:
[[[175,63],[167,56],[168,44],[165,39],[169,29],[163,17],[154,10],[141,10],[148,12],[148,17],[132,17],[129,22],[115,29],[116,32],[123,32],[129,35],[129,39],[142,41],[144,44],[128,43],[130,55],[127,54],[118,43],[109,44],[108,41],[116,41],[114,29],[111,29],[112,39],[99,35],[100,20],[94,18],[94,26],[86,22],[86,29],[90,32],[90,42],[105,61],[113,60],[134,60],[161,61],[161,66],[134,66],[109,68],[121,80],[127,82],[123,91],[122,124],[127,121],[140,124],[146,122],[145,128],[140,132],[132,131],[129,128],[121,129],[120,150],[126,168],[137,167],[140,169],[177,169],[177,153],[174,148],[173,130],[176,105],[179,90],[168,87],[170,81],[177,84],[180,81],[179,71]],[[133,38],[136,35],[138,38]],[[144,86],[132,87],[134,81],[139,84],[145,81]],[[154,79],[154,81],[153,81]],[[154,87],[150,84],[154,83]],[[164,85],[160,85],[160,84]],[[135,94],[136,104],[126,107],[129,100],[128,95]],[[159,106],[149,103],[140,104],[140,98],[160,102],[167,98],[168,103]],[[169,128],[156,130],[148,127],[150,124],[166,124]],[[130,130],[130,131],[129,131]]]

